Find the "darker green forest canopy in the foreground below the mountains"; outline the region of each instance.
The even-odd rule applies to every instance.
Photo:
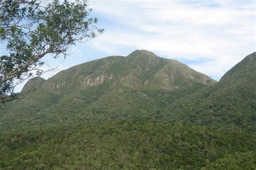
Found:
[[[255,134],[167,120],[35,126],[0,136],[1,169],[200,169],[235,152],[255,162]]]

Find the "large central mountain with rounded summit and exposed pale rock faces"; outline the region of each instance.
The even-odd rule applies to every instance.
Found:
[[[111,56],[73,66],[48,80],[31,79],[21,92],[28,94],[5,106],[0,123],[14,128],[157,116],[171,101],[215,83],[176,60],[136,50],[126,57]]]

